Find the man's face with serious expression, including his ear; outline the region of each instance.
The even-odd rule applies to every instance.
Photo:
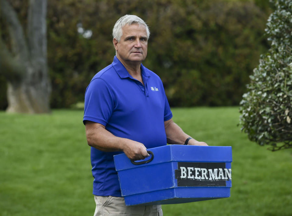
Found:
[[[142,25],[125,25],[120,42],[113,40],[117,57],[122,61],[142,62],[147,55],[147,33]]]

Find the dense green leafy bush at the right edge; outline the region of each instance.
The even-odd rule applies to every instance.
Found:
[[[292,147],[292,0],[272,2],[265,30],[271,48],[250,76],[240,124],[250,140],[279,150]]]

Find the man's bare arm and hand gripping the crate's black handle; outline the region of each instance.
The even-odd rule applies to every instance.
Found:
[[[85,131],[87,144],[98,150],[123,151],[131,160],[142,160],[149,156],[142,143],[114,136],[102,124],[86,121]]]

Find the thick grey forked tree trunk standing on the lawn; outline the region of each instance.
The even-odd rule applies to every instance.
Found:
[[[6,18],[12,41],[10,57],[14,58],[11,61],[8,55],[6,59],[0,59],[0,71],[5,70],[3,74],[6,74],[8,80],[6,111],[48,113],[51,85],[47,73],[47,0],[30,0],[27,40],[17,15],[7,0],[0,0],[0,7]],[[13,63],[19,66],[15,67]],[[6,68],[3,68],[3,65]]]

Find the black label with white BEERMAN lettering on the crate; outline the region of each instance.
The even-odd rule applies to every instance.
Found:
[[[178,162],[174,170],[178,186],[226,186],[231,179],[231,169],[225,163]]]

